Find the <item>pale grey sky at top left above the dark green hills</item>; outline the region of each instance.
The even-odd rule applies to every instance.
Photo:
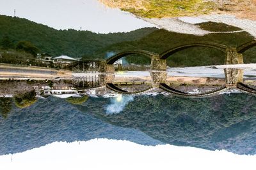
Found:
[[[112,9],[97,0],[0,0],[0,14],[27,18],[55,29],[92,32],[129,32],[153,27],[133,15]]]

